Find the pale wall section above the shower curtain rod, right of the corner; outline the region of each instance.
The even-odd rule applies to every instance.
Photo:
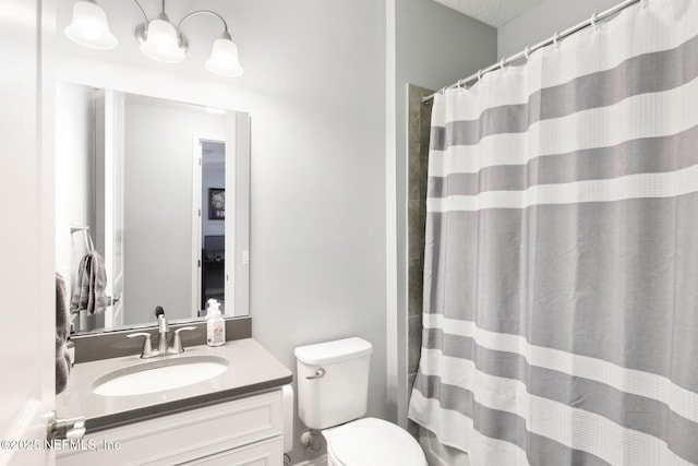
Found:
[[[565,31],[621,0],[543,0],[497,29],[497,57],[510,57]]]

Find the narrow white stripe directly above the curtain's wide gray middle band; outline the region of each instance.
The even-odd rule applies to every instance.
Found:
[[[485,191],[474,195],[429,198],[426,212],[526,208],[541,204],[614,202],[673,198],[698,191],[698,165],[667,174],[627,175],[607,180],[537,184],[524,191]]]

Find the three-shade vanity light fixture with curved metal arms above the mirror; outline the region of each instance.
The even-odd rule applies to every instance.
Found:
[[[146,57],[164,63],[178,63],[184,59],[189,41],[180,32],[182,24],[198,14],[209,14],[222,22],[224,32],[214,41],[210,58],[205,67],[214,74],[227,77],[240,76],[244,70],[238,58],[238,46],[228,32],[228,23],[224,17],[210,10],[197,10],[189,13],[174,26],[165,14],[165,0],[161,11],[155,20],[149,21],[143,7],[132,0],[139,8],[145,22],[135,28],[135,37],[141,43],[141,51]],[[93,1],[79,1],[73,7],[73,21],[64,31],[65,35],[76,44],[96,49],[110,49],[118,45],[117,38],[109,31],[107,14]]]

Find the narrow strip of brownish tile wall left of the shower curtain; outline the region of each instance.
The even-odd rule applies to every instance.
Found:
[[[432,104],[422,97],[433,91],[408,85],[408,375],[411,387],[419,367],[422,346],[422,276],[424,270],[424,222],[426,219],[426,169],[429,166],[429,132]],[[408,420],[408,430],[416,438],[418,428]]]

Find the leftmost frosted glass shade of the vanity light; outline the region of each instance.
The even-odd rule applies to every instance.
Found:
[[[79,1],[73,5],[73,21],[63,33],[83,47],[108,50],[119,45],[119,40],[109,31],[107,13],[88,1]]]

